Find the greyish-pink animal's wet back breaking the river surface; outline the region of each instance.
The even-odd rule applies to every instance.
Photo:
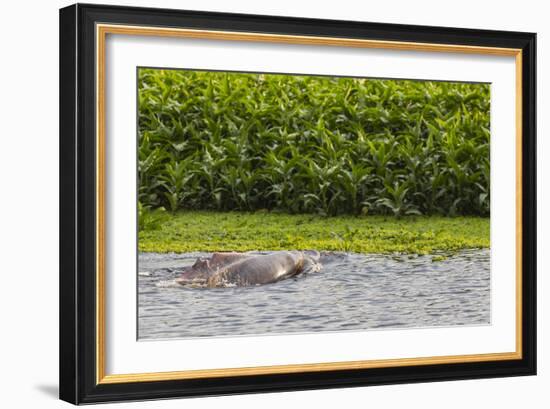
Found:
[[[214,253],[186,267],[176,282],[191,287],[255,286],[303,272],[319,271],[317,251],[275,251],[269,254]]]

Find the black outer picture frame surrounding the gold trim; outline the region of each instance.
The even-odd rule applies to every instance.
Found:
[[[97,381],[96,24],[520,49],[522,350],[514,360]],[[536,34],[76,4],[60,10],[60,398],[74,404],[534,375],[536,373]]]

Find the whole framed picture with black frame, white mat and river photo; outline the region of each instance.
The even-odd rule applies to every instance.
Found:
[[[534,375],[535,44],[61,9],[61,399]]]

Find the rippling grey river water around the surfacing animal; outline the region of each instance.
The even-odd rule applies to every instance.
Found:
[[[138,338],[307,333],[490,324],[490,252],[322,254],[322,270],[256,287],[173,280],[210,253],[139,255]]]

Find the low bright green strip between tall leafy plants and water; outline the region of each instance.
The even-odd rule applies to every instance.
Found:
[[[489,247],[489,219],[288,215],[273,212],[147,212],[139,250],[150,252],[316,249],[428,254]]]

